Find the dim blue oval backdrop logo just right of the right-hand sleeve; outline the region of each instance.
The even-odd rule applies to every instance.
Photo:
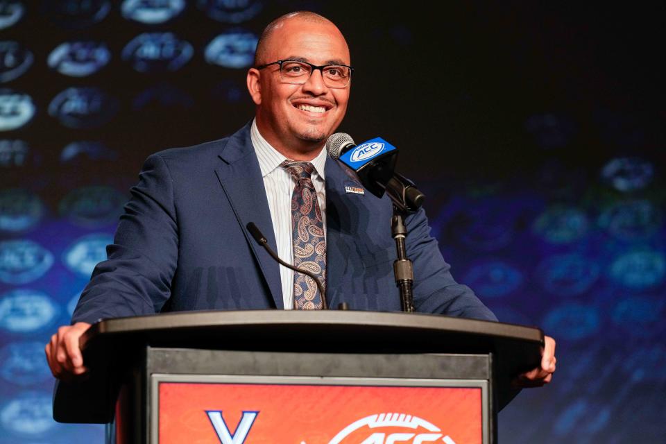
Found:
[[[499,260],[491,260],[473,266],[462,282],[484,298],[499,298],[522,285],[522,273],[515,266]]]

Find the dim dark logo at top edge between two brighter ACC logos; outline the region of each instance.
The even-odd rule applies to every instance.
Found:
[[[65,28],[87,28],[101,22],[111,10],[109,0],[46,0],[46,17]]]

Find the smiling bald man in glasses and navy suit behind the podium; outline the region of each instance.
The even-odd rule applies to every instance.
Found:
[[[255,119],[230,137],[148,157],[121,216],[108,260],[95,268],[73,325],[46,345],[53,375],[85,373],[78,339],[100,318],[203,309],[400,311],[393,282],[391,200],[361,189],[327,158],[352,85],[347,43],[312,12],[284,15],[259,39],[247,74]],[[246,230],[255,223],[282,259],[278,266]],[[406,219],[417,311],[495,321],[452,278],[425,212]],[[555,370],[547,338],[540,368],[517,379],[543,385]]]

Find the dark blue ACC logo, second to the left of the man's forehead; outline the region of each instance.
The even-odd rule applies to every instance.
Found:
[[[194,54],[192,45],[173,33],[143,33],[134,37],[122,58],[139,72],[176,71]]]

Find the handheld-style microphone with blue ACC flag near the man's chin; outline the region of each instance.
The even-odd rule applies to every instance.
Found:
[[[384,192],[402,212],[415,212],[425,200],[425,194],[416,188],[414,182],[395,173],[398,148],[381,137],[375,137],[362,144],[345,133],[335,133],[326,141],[326,151],[333,160],[339,160],[355,171],[361,184],[370,193],[381,198]]]

